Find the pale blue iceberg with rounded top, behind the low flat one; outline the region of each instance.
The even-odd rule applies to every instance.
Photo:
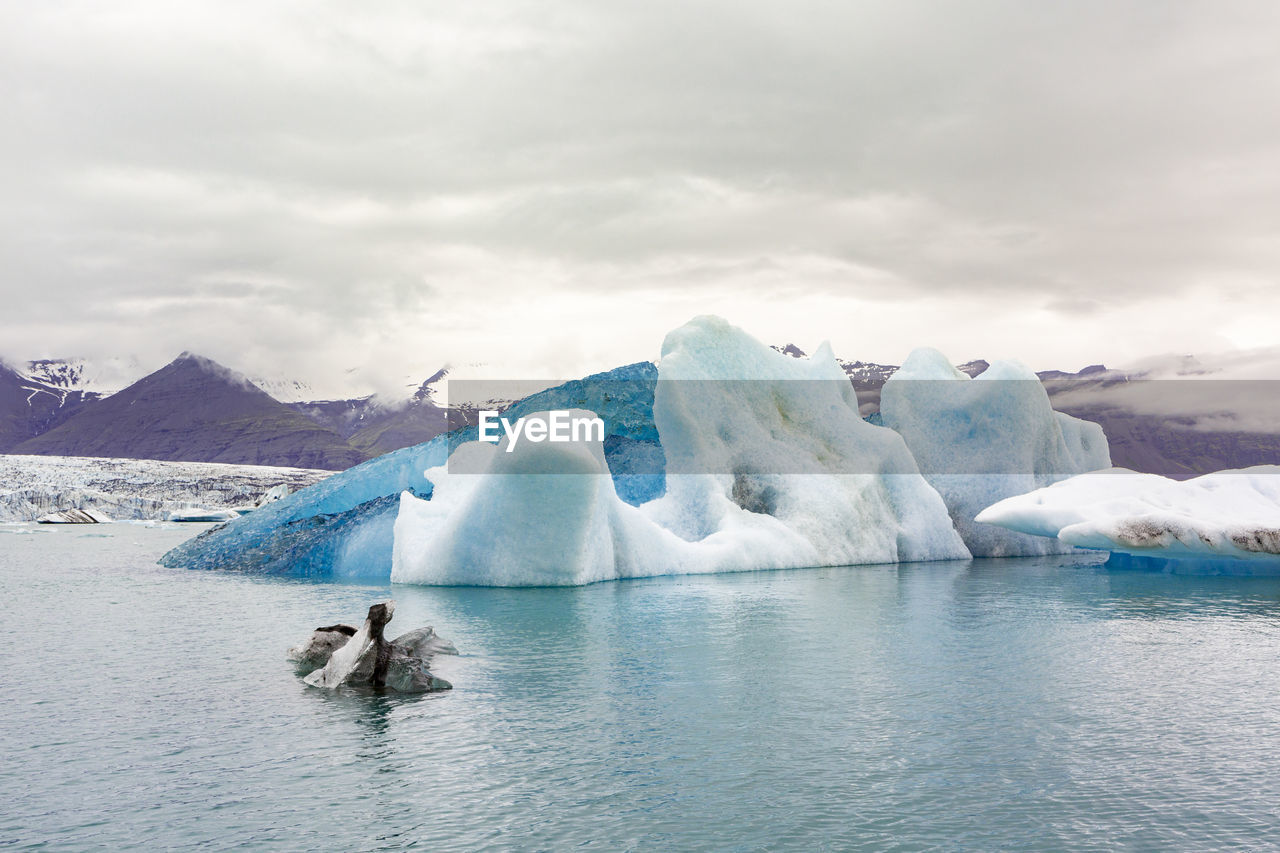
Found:
[[[978,557],[1069,552],[1062,540],[975,516],[1001,498],[1111,466],[1102,428],[1053,411],[1036,374],[1016,361],[996,361],[970,378],[937,350],[915,350],[884,383],[879,415],[904,438]]]

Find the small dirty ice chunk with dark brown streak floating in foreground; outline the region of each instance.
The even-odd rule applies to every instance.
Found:
[[[436,654],[457,654],[458,649],[431,628],[387,640],[383,633],[394,612],[396,602],[385,601],[369,608],[358,630],[340,624],[317,628],[289,649],[289,660],[308,672],[305,681],[312,686],[385,688],[398,693],[451,689],[452,684],[431,675],[428,663]]]

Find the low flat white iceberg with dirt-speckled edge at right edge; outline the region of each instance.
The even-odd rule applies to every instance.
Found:
[[[1280,570],[1280,466],[1190,480],[1110,469],[1005,498],[978,520],[1083,548]]]

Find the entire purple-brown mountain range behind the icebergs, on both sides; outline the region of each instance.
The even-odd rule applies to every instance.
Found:
[[[774,348],[805,355],[795,345]],[[881,387],[897,366],[840,364],[858,391],[863,415],[877,411]],[[975,377],[988,364],[975,360],[956,366]],[[292,398],[306,394],[308,387],[250,380],[189,352],[125,384],[123,377],[131,369],[136,370],[136,362],[119,359],[106,366],[61,360],[32,361],[22,369],[0,364],[0,453],[340,470],[429,441],[451,426],[451,412],[436,402],[447,369],[419,383],[407,400],[367,394],[288,402],[268,391]],[[1276,424],[1270,432],[1270,426],[1207,430],[1193,416],[1142,411],[1107,394],[1143,379],[1140,371],[1091,365],[1076,373],[1037,375],[1056,409],[1102,424],[1116,465],[1183,479],[1280,462],[1280,418],[1263,419]],[[475,412],[452,415],[457,425],[474,423]]]

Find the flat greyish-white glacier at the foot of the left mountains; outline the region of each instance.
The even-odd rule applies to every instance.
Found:
[[[305,489],[333,471],[146,459],[0,455],[0,521],[63,510],[116,520],[165,520],[192,507],[229,510]]]

